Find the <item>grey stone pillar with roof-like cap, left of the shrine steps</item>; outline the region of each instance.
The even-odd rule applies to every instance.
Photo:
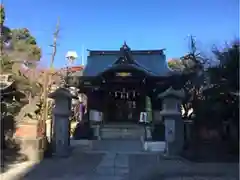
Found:
[[[74,96],[68,89],[58,88],[49,94],[55,100],[53,109],[53,151],[58,157],[69,155],[70,150],[70,121],[71,101]]]

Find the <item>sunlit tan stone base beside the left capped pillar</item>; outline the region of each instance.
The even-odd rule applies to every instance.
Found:
[[[40,162],[44,158],[47,138],[38,120],[23,119],[18,123],[15,132],[16,142],[20,145],[20,153],[29,161]]]

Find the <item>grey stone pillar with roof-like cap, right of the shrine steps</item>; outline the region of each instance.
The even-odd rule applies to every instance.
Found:
[[[181,114],[181,100],[184,91],[172,87],[158,95],[163,100],[160,112],[165,124],[166,151],[169,155],[178,155],[184,145],[184,122]]]

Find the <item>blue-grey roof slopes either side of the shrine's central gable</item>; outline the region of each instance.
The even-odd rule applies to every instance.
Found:
[[[133,59],[145,70],[152,72],[155,76],[167,76],[172,71],[168,68],[166,56],[159,54],[136,54],[132,55]],[[118,54],[90,55],[83,76],[96,76],[101,72],[109,69],[119,58]]]

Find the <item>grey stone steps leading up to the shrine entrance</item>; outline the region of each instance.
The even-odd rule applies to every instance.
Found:
[[[102,140],[140,140],[144,134],[144,127],[136,124],[107,124],[100,128]]]

